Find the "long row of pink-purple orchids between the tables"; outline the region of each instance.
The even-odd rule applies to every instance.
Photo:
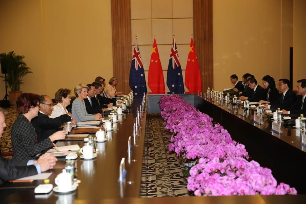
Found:
[[[277,185],[270,169],[248,161],[244,145],[179,95],[161,97],[159,106],[172,134],[169,150],[183,162],[195,161],[187,178],[195,196],[297,194],[287,184]]]

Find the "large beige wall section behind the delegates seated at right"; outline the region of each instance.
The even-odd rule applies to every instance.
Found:
[[[231,74],[280,78],[280,17],[281,1],[213,1],[214,89],[231,87]]]

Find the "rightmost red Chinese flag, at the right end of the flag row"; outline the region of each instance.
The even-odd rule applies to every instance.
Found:
[[[197,93],[198,91],[202,91],[200,67],[197,54],[195,53],[192,37],[186,65],[185,86],[189,90],[189,93]]]

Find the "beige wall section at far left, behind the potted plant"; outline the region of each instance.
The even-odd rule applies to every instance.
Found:
[[[24,62],[33,72],[23,78],[24,84],[20,90],[44,94],[40,1],[0,1],[0,19],[0,53],[15,51],[17,55],[24,55]],[[0,96],[3,97],[5,83],[2,80],[0,86]]]

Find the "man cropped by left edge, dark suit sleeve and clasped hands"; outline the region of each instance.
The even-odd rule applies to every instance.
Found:
[[[5,112],[0,108],[0,138],[5,124]],[[2,180],[15,180],[25,176],[40,174],[52,169],[57,159],[51,154],[44,154],[38,160],[11,160],[2,157],[0,150],[0,184]]]

